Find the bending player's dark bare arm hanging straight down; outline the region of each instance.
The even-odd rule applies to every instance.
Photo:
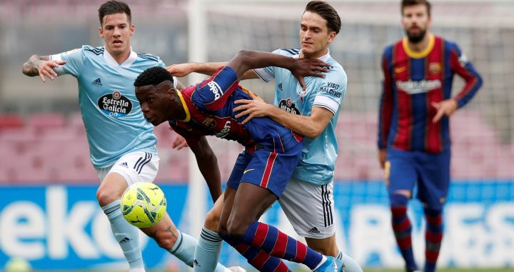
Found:
[[[216,202],[216,199],[221,196],[221,174],[216,154],[214,154],[206,136],[201,136],[198,138],[198,141],[196,139],[189,140],[186,137],[186,141],[191,151],[195,154],[198,168],[206,180],[213,201]]]

